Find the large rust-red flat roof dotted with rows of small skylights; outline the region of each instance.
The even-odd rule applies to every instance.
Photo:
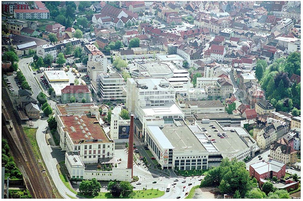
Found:
[[[78,144],[80,139],[84,139],[82,144],[110,142],[96,118],[88,118],[86,115],[59,116],[59,118],[65,126],[63,130],[68,132],[75,144]]]

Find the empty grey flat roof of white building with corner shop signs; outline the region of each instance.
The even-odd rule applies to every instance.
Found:
[[[164,125],[160,128],[165,137],[174,146],[174,151],[206,151],[201,142],[191,132],[188,126],[182,119],[174,119],[173,124]]]

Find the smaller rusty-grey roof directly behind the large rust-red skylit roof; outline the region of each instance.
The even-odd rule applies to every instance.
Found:
[[[90,111],[90,107],[94,106],[93,103],[68,103],[55,105],[60,112],[59,115],[82,115]]]

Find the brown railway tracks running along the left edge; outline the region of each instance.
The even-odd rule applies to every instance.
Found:
[[[16,164],[20,167],[25,179],[26,186],[30,191],[33,198],[55,198],[52,192],[52,187],[49,181],[42,175],[38,168],[38,161],[35,159],[31,150],[31,143],[28,141],[22,126],[19,125],[19,119],[17,119],[17,111],[14,109],[14,105],[9,98],[9,94],[5,88],[2,88],[2,104],[5,108],[2,112],[2,137],[7,139],[8,145],[11,149],[12,155],[16,160]],[[12,137],[8,127],[6,126],[6,120],[11,119],[12,125],[15,128],[16,134],[19,138],[21,147],[18,147],[16,141]],[[24,154],[22,154],[22,149]]]

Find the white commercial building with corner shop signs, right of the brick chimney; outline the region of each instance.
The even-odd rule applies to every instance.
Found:
[[[183,119],[173,119],[163,126],[147,126],[146,143],[161,168],[208,169],[208,151]]]

